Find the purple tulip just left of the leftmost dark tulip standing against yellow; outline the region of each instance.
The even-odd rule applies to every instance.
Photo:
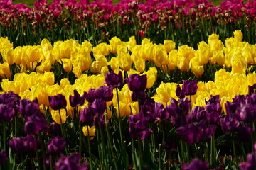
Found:
[[[26,118],[33,115],[34,113],[40,112],[38,101],[31,101],[29,99],[23,99],[20,101],[19,113]]]

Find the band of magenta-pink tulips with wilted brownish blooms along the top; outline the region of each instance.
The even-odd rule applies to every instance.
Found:
[[[124,0],[117,4],[113,4],[111,0],[91,3],[85,0],[55,0],[52,4],[47,4],[46,0],[38,0],[34,8],[28,8],[26,4],[11,3],[9,0],[0,4],[0,26],[7,32],[9,28],[18,28],[21,32],[25,31],[25,35],[29,35],[23,28],[27,27],[30,32],[37,34],[41,33],[40,29],[53,31],[58,26],[63,26],[67,30],[82,28],[85,32],[90,30],[93,24],[96,30],[102,31],[98,33],[102,34],[103,40],[117,35],[114,32],[116,28],[123,29],[127,26],[135,29],[132,31],[133,34],[143,37],[155,23],[161,30],[177,30],[185,26],[193,32],[196,28],[202,28],[202,23],[210,24],[209,33],[213,33],[215,26],[228,23],[244,24],[242,27],[245,26],[249,30],[255,25],[256,16],[256,2],[244,3],[242,0],[223,1],[220,6],[213,6],[213,3],[207,0]],[[244,16],[245,22],[238,22]],[[204,22],[201,22],[202,20]],[[113,30],[107,30],[108,26],[112,26]],[[87,35],[87,38],[89,37],[90,35]]]

